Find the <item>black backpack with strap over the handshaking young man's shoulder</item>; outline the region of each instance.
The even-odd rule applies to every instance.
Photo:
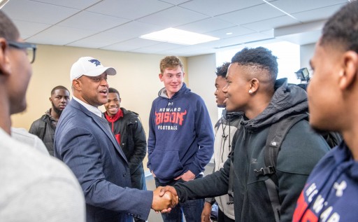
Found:
[[[276,189],[276,186],[278,186],[278,178],[275,174],[278,152],[280,151],[282,141],[285,139],[287,132],[289,132],[289,130],[294,124],[298,123],[300,120],[303,119],[308,120],[308,113],[301,113],[294,116],[289,116],[288,118],[282,119],[279,122],[271,125],[270,129],[268,130],[266,146],[264,148],[266,167],[263,167],[261,169],[255,169],[255,174],[257,174],[257,176],[268,175],[273,181],[272,186],[266,187],[268,189],[268,196],[271,199],[271,205],[273,209],[277,209],[277,211],[275,211],[275,221],[280,221],[280,216],[278,215],[278,212],[280,211],[280,200]],[[331,148],[334,148],[334,146],[340,144],[343,139],[341,137],[341,134],[339,134],[338,132],[324,132],[321,134]]]

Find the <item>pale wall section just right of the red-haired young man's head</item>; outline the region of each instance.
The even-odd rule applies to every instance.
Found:
[[[199,55],[187,58],[189,88],[203,98],[208,108],[211,122],[217,122],[215,102],[215,54]]]

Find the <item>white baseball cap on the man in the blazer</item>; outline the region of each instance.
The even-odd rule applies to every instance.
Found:
[[[81,76],[99,76],[104,72],[109,76],[117,74],[113,67],[103,67],[101,62],[93,57],[80,57],[71,67],[70,79],[72,82]]]

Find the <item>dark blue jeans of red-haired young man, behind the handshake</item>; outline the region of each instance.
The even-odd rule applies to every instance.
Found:
[[[197,176],[195,179],[202,177],[201,174]],[[178,182],[184,182],[182,179],[178,181],[170,181],[168,183],[160,183],[157,178],[155,178],[155,186],[173,186]],[[168,214],[162,214],[162,218],[164,222],[182,222],[182,214],[184,213],[185,221],[187,222],[197,222],[201,221],[201,212],[203,211],[204,200],[187,200],[183,203],[176,205],[171,212]]]

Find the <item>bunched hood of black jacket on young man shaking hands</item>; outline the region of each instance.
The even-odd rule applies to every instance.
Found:
[[[259,116],[242,121],[248,130],[272,125],[286,116],[308,112],[307,93],[298,85],[288,85],[287,78],[275,82],[275,92],[266,109]]]

